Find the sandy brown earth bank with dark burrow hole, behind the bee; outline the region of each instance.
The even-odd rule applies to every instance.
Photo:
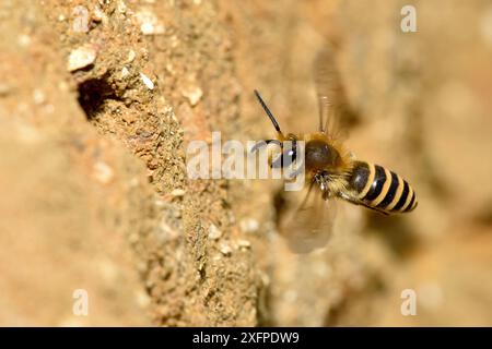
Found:
[[[402,4],[2,1],[0,325],[492,325],[492,7],[415,1],[402,33]],[[254,88],[284,130],[315,130],[327,41],[347,145],[419,207],[340,203],[300,255],[280,182],[189,180],[185,151],[272,137]]]

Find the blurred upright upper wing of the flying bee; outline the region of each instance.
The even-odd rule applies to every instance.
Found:
[[[329,46],[317,55],[313,73],[319,108],[319,131],[335,135],[339,131],[338,118],[344,94],[335,52]]]

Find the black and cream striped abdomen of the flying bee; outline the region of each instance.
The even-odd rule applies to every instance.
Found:
[[[361,204],[384,213],[403,213],[417,207],[415,192],[400,176],[365,161],[355,161],[349,185]]]

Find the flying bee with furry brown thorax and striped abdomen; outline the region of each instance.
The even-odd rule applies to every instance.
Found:
[[[255,91],[258,101],[277,131],[277,140],[266,140],[260,143],[273,142],[282,148],[285,141],[291,141],[294,145],[298,141],[305,142],[304,165],[308,193],[304,201],[307,202],[312,189],[317,188],[325,202],[329,202],[331,198],[341,198],[386,215],[413,210],[418,204],[415,192],[406,180],[383,166],[355,159],[355,156],[340,140],[339,130],[337,130],[339,115],[337,111],[340,105],[337,99],[341,98],[341,85],[338,71],[332,62],[332,55],[328,50],[321,51],[315,62],[315,83],[319,105],[319,127],[317,132],[306,134],[289,133],[284,135],[272,112],[259,93]],[[295,146],[282,152],[278,158],[271,161],[271,167],[285,167],[297,157]],[[303,203],[301,206],[305,207],[305,204]],[[330,214],[327,212],[319,214],[321,217],[312,217],[303,222],[312,225],[312,227],[320,226],[316,229],[309,228],[314,232],[323,229],[329,230],[329,220],[332,219],[328,217]],[[293,216],[291,221],[298,222],[297,217]],[[324,228],[323,224],[319,225],[313,219],[324,220],[327,227]]]

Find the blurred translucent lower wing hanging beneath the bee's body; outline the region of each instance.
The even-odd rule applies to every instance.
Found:
[[[300,204],[301,203],[301,204]],[[285,214],[279,230],[295,253],[324,248],[330,236],[336,214],[335,200],[324,200],[316,184],[301,192],[285,192]]]

